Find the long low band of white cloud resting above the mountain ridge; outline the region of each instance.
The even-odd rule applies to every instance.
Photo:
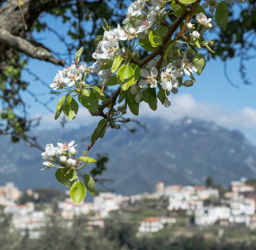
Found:
[[[145,102],[140,104],[139,117],[159,117],[167,119],[171,122],[180,120],[184,117],[192,119],[213,121],[219,126],[228,129],[247,130],[256,128],[256,109],[244,107],[237,111],[230,111],[220,106],[219,104],[199,103],[190,94],[180,94],[171,96],[171,106],[166,108],[158,101],[158,109],[152,111]],[[39,117],[35,115],[34,117]],[[138,119],[128,111],[125,117]],[[98,122],[102,117],[92,117],[87,109],[80,107],[76,118],[71,122],[68,121],[66,128],[78,128],[81,125],[88,125],[93,122]],[[54,115],[49,114],[44,116],[41,121],[41,128],[56,128],[59,127],[59,121],[54,120]]]

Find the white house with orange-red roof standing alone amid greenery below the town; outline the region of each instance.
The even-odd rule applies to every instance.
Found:
[[[176,223],[176,219],[150,217],[141,222],[138,231],[141,233],[154,233],[161,230],[165,223]]]

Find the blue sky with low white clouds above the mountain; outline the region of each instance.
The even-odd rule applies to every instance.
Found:
[[[45,20],[51,28],[66,37],[67,25],[62,24],[60,18],[44,15]],[[84,25],[88,25],[84,24]],[[44,43],[52,50],[65,53],[65,46],[59,42],[58,37],[50,31],[34,33],[37,39]],[[67,65],[70,64],[67,57],[64,56]],[[230,130],[238,129],[242,131],[247,139],[256,144],[256,84],[254,78],[253,61],[246,63],[247,76],[252,82],[251,85],[245,85],[239,74],[239,59],[228,60],[227,73],[230,80],[239,88],[235,88],[228,83],[224,76],[224,63],[220,59],[211,59],[207,61],[206,68],[200,76],[194,74],[197,82],[192,87],[182,86],[177,94],[171,94],[169,100],[171,106],[166,108],[158,103],[158,109],[152,111],[144,102],[140,105],[139,117],[156,117],[169,121],[191,117],[194,119],[213,121],[217,125],[223,126]],[[58,69],[51,63],[30,59],[26,69],[29,69],[39,76],[45,83],[50,85]],[[48,101],[51,97],[54,100],[48,104],[52,110],[56,110],[56,104],[62,97],[61,94],[50,95],[49,89],[36,81],[28,72],[23,71],[22,79],[29,81],[31,84],[28,89],[37,94],[37,98],[42,102]],[[22,98],[30,105],[28,111],[31,117],[42,117],[41,125],[37,129],[60,128],[59,121],[54,120],[45,107],[35,102],[26,92],[22,93]],[[128,113],[127,117],[134,116]],[[81,125],[97,122],[98,117],[91,117],[85,108],[80,107],[78,115],[74,121],[68,121],[67,128],[77,128]]]

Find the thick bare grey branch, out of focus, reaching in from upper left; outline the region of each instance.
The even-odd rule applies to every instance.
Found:
[[[64,66],[63,60],[58,60],[52,54],[42,47],[36,47],[24,38],[12,35],[4,28],[0,28],[0,43],[15,48],[32,58],[54,63],[55,65]]]

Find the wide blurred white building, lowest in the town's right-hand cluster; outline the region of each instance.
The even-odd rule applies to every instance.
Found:
[[[196,225],[213,225],[217,220],[230,218],[229,207],[202,207],[195,210]]]

